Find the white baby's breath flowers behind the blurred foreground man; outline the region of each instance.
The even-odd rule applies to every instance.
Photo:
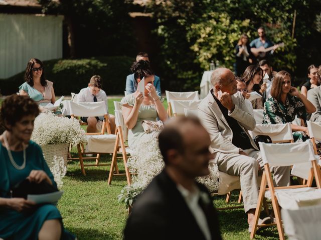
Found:
[[[163,156],[158,147],[159,132],[144,134],[139,141],[139,148],[134,148],[128,158],[128,168],[133,173],[132,184],[125,186],[118,195],[118,201],[131,207],[135,197],[142,192],[154,176],[161,173],[165,167]],[[209,165],[208,176],[197,177],[196,180],[205,184],[210,192],[219,188],[219,170],[216,164]]]

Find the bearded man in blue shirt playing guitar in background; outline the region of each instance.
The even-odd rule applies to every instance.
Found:
[[[250,43],[251,51],[257,60],[266,59],[266,52],[268,54],[273,54],[274,50],[279,46],[278,44],[274,45],[272,41],[266,38],[265,29],[263,26],[260,26],[257,29],[259,37],[252,40]]]

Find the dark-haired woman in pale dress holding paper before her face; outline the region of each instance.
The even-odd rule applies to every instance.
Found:
[[[122,115],[125,125],[128,127],[128,145],[134,148],[144,134],[142,120],[156,121],[167,120],[167,112],[153,85],[154,73],[150,68],[149,61],[139,60],[131,66],[134,72],[135,83],[143,77],[145,83],[144,94],[138,88],[134,93],[125,96],[122,102]]]

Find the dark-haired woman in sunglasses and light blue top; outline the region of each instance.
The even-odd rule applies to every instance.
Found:
[[[26,82],[19,86],[20,95],[29,96],[41,106],[49,102],[55,103],[53,82],[45,79],[44,64],[41,60],[31,58],[28,61],[25,80]]]

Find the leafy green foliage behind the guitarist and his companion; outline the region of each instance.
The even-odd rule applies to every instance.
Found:
[[[319,0],[159,0],[150,1],[145,9],[153,12],[157,25],[154,34],[161,43],[162,72],[180,90],[198,89],[211,60],[233,69],[241,33],[254,39],[260,25],[274,43],[285,43],[273,55],[274,69],[304,77],[309,64],[321,63],[316,40],[321,34],[315,27]]]

